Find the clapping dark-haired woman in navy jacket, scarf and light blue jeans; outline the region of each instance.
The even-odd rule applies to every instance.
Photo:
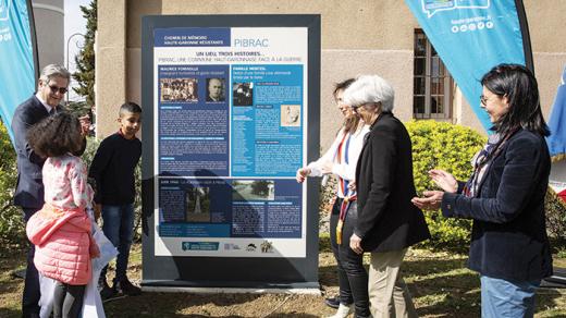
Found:
[[[414,198],[417,207],[473,220],[468,266],[481,274],[482,317],[532,317],[534,291],[552,274],[544,195],[551,160],[537,80],[522,65],[501,64],[481,80],[481,105],[493,123],[473,174],[457,182],[429,172],[443,191]]]

